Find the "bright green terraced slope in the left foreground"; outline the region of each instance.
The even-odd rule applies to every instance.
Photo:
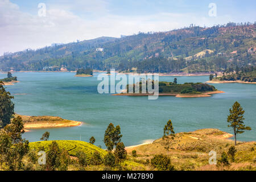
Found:
[[[71,156],[77,156],[79,151],[85,152],[88,158],[91,158],[94,151],[100,152],[102,156],[105,156],[107,154],[107,151],[87,142],[76,141],[76,140],[55,140],[55,141],[57,142],[57,144],[59,144],[60,148],[64,148],[65,150],[67,150],[69,155]],[[44,150],[47,152],[49,150],[48,148],[49,144],[51,143],[52,141],[31,142],[30,149],[38,151],[40,150],[40,147],[44,147]],[[130,168],[143,169],[142,164],[130,162],[128,160],[126,160],[124,164]]]

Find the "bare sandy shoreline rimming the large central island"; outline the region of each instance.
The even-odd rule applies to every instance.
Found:
[[[180,94],[180,93],[159,93],[159,96],[175,96],[179,98],[194,98],[194,97],[211,97],[211,94],[225,93],[221,90],[212,92],[204,92],[201,94]],[[153,96],[154,94],[149,93],[118,93],[112,94],[112,96]]]

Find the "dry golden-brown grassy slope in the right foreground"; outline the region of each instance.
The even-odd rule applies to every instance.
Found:
[[[219,159],[223,151],[228,152],[229,147],[234,145],[234,141],[228,139],[230,136],[217,129],[202,129],[176,134],[169,151],[164,148],[166,140],[160,138],[152,144],[127,148],[127,152],[131,154],[132,150],[137,151],[138,158],[134,158],[134,161],[151,159],[155,154],[169,155],[177,170],[256,170],[256,142],[238,142],[235,162],[230,167],[209,165],[209,151],[216,151]],[[254,151],[251,151],[252,147]]]

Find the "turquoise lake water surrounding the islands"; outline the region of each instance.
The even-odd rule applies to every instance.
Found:
[[[38,141],[45,131],[50,139],[84,140],[96,138],[102,142],[110,122],[121,126],[126,146],[163,135],[163,127],[172,120],[175,132],[217,128],[232,133],[227,127],[229,108],[235,101],[245,109],[245,123],[251,131],[238,135],[238,140],[256,140],[256,85],[212,84],[225,93],[206,98],[111,96],[97,93],[97,73],[94,77],[74,77],[75,73],[14,73],[18,84],[6,85],[14,94],[15,111],[23,115],[55,115],[82,121],[78,127],[38,129],[23,134],[30,142]],[[0,74],[3,78],[6,75]],[[178,83],[205,82],[208,76],[177,77]],[[173,81],[173,76],[159,77],[160,81]],[[26,95],[15,95],[26,94]]]

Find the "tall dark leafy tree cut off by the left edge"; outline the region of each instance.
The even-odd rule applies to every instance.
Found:
[[[0,82],[0,128],[11,122],[11,117],[14,114],[14,104],[11,101],[13,98],[10,92],[6,92],[3,82]]]

